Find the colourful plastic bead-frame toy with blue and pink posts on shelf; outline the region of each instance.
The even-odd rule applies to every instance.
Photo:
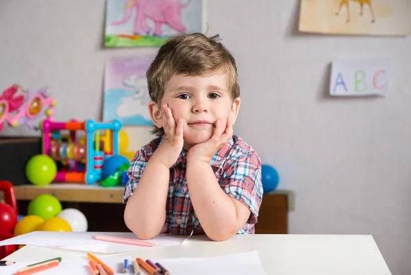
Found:
[[[42,154],[58,166],[55,182],[87,183],[103,179],[103,163],[119,155],[121,122],[42,122]],[[103,131],[103,133],[101,133]]]

